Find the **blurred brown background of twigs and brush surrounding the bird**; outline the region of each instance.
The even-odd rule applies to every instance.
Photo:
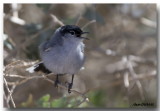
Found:
[[[4,4],[3,20],[4,107],[156,107],[156,4]],[[30,79],[25,70],[40,60],[38,46],[62,24],[90,32],[85,69],[73,84],[89,101],[43,78]],[[63,83],[70,79],[61,77]]]

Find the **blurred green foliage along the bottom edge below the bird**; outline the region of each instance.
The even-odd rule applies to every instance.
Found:
[[[103,108],[107,103],[107,98],[104,91],[91,91],[87,93],[89,102],[83,101],[80,96],[63,96],[57,99],[53,99],[49,94],[43,95],[37,101],[34,101],[32,95],[29,95],[28,99],[21,104],[22,107],[35,107],[39,108]],[[32,104],[32,105],[31,105]]]

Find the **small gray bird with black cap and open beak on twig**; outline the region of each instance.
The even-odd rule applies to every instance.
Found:
[[[55,87],[58,87],[59,76],[64,74],[72,75],[68,83],[68,93],[71,93],[74,75],[79,72],[85,62],[84,40],[89,40],[82,35],[88,34],[79,26],[64,25],[56,29],[48,41],[39,46],[41,62],[33,65],[27,70],[30,73],[41,71],[45,74],[56,75]]]

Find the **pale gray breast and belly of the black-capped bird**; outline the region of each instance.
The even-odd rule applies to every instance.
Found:
[[[45,66],[55,74],[76,74],[84,64],[84,44],[51,47],[40,51]]]

